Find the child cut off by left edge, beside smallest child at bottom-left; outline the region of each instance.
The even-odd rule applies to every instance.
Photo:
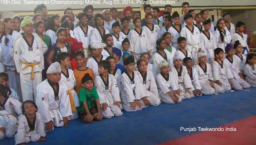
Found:
[[[9,93],[8,93],[9,92]],[[10,98],[10,90],[0,84],[0,140],[12,138],[17,131],[16,114],[22,114],[21,103]]]

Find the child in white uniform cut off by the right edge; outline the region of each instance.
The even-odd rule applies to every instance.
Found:
[[[248,54],[246,58],[246,63],[244,66],[244,75],[246,81],[252,86],[256,87],[256,55]]]

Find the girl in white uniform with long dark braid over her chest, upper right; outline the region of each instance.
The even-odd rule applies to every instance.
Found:
[[[214,32],[214,37],[216,38],[217,47],[223,49],[225,53],[225,47],[228,43],[231,42],[231,35],[229,31],[226,31],[224,28],[226,26],[224,19],[219,19],[217,21],[217,29]]]

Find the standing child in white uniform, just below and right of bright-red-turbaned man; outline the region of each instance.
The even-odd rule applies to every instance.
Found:
[[[140,28],[140,18],[133,19],[135,29],[130,31],[130,48],[128,51],[134,56],[134,60],[138,61],[140,55],[144,52],[148,52],[150,55],[151,45],[147,37],[146,31],[142,31]]]

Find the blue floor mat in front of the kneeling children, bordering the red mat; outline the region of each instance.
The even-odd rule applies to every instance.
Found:
[[[46,133],[46,141],[31,144],[162,143],[195,133],[180,131],[180,127],[218,127],[256,115],[256,88],[248,90],[200,96],[174,105],[161,103],[138,112],[123,111],[123,116],[90,124],[76,119],[69,121],[67,127]],[[14,138],[0,141],[0,145],[14,143]]]

